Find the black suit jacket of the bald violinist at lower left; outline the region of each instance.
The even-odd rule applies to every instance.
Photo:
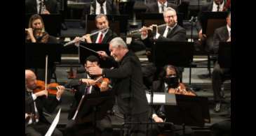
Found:
[[[60,104],[60,101],[57,100],[55,96],[39,96],[36,100],[33,100],[32,96],[29,95],[28,91],[25,91],[25,113],[27,114],[35,114],[34,109],[34,101],[36,103],[36,109],[39,112],[39,121],[43,123],[49,123],[46,120],[46,117],[43,116],[43,108],[46,109],[47,112],[54,112],[55,108]],[[26,122],[27,123],[27,122]]]

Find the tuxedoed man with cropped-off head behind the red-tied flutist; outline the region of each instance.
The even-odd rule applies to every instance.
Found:
[[[120,15],[116,3],[112,4],[112,0],[94,0],[92,3],[86,4],[83,8],[81,16],[81,26],[86,26],[86,15]]]

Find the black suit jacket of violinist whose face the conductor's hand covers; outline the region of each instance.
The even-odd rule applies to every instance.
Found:
[[[70,106],[69,109],[69,115],[67,117],[67,119],[72,119],[76,109],[79,105],[79,102],[83,96],[83,94],[85,94],[85,90],[87,88],[86,84],[80,84],[79,80],[81,78],[88,78],[86,73],[79,73],[76,75],[76,79],[71,80],[69,82],[67,82],[67,84],[65,84],[65,87],[67,88],[74,88],[76,89],[76,92],[74,93],[74,99],[72,101],[72,105]],[[91,93],[100,93],[100,89],[97,87],[92,88]]]

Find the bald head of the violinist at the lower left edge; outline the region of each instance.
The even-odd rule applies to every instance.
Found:
[[[32,70],[25,70],[25,82],[28,89],[36,88],[36,75]]]

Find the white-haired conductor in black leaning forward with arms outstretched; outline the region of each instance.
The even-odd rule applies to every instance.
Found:
[[[118,63],[119,66],[114,69],[91,67],[88,68],[90,75],[102,75],[112,79],[112,90],[116,94],[116,103],[125,122],[148,121],[147,98],[143,89],[140,60],[128,50],[126,43],[120,37],[110,41],[109,51],[113,58],[107,57],[106,52],[98,53],[106,61]],[[144,124],[132,124],[128,130],[131,135],[146,135]]]

